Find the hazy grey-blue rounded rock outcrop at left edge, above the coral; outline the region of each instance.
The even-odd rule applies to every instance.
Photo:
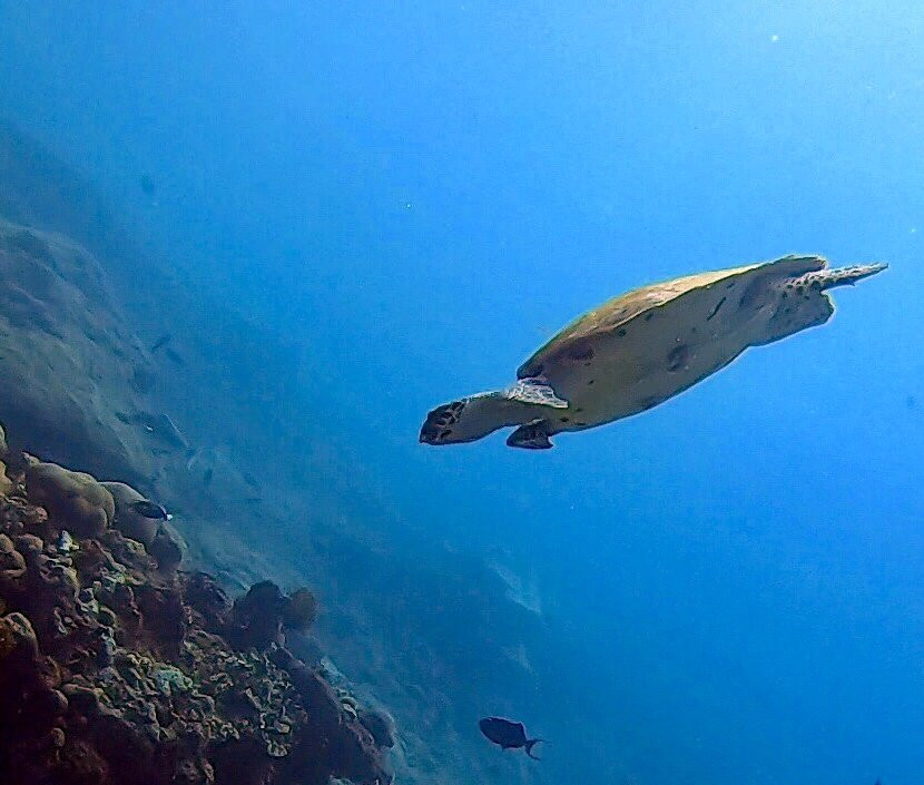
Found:
[[[0,218],[0,402],[12,428],[90,470],[154,473],[130,420],[149,363],[96,259],[61,235]],[[156,448],[155,448],[156,449]]]

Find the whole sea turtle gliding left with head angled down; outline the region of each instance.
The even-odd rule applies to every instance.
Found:
[[[518,381],[438,406],[420,440],[455,444],[515,426],[510,447],[543,450],[550,436],[643,412],[725,367],[748,346],[824,324],[825,290],[885,269],[833,269],[820,256],[784,256],[643,286],[564,327],[523,363]]]

